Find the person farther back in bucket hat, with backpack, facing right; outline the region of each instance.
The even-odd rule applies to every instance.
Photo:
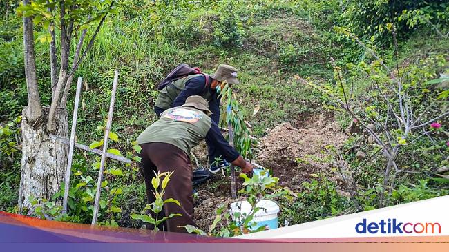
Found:
[[[202,73],[196,75],[188,75],[181,79],[171,82],[160,90],[159,95],[155,101],[154,110],[157,116],[169,108],[182,106],[187,97],[192,95],[199,95],[207,100],[209,109],[212,113],[211,119],[218,124],[220,122],[220,98],[218,97],[217,89],[224,88],[225,84],[229,86],[239,84],[238,70],[233,66],[220,64],[216,72],[212,75],[204,75]],[[220,150],[213,146],[206,139],[207,149],[209,153],[209,171],[217,173],[222,167],[229,166],[226,159],[223,159]],[[216,162],[220,160],[220,162]]]

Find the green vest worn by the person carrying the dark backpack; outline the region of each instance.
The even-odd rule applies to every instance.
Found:
[[[181,91],[184,90],[184,88],[186,87],[187,81],[189,81],[189,79],[191,78],[198,77],[201,75],[202,74],[189,75],[184,78],[178,79],[177,81],[171,82],[171,84],[167,85],[165,88],[162,88],[162,90],[160,90],[160,93],[159,95],[157,95],[157,99],[154,105],[165,110],[171,108],[173,106],[173,102],[175,101],[176,97],[178,97]],[[212,93],[210,88],[206,88],[204,92],[198,95],[203,97],[206,101],[210,101],[212,99]]]

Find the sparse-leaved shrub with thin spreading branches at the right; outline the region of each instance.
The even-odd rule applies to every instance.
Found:
[[[394,29],[393,27],[393,35]],[[298,79],[321,90],[336,104],[334,107],[336,111],[343,111],[350,116],[370,135],[372,142],[376,144],[374,148],[381,149],[385,163],[381,175],[383,190],[379,192],[379,205],[385,206],[387,204],[385,197],[389,198],[391,195],[399,175],[415,172],[405,169],[403,160],[406,159],[401,158],[402,149],[428,135],[427,130],[432,128],[431,123],[449,114],[441,109],[444,103],[438,98],[439,88],[431,87],[428,83],[428,79],[435,76],[434,68],[430,66],[446,66],[446,60],[442,55],[437,55],[435,59],[421,61],[421,66],[410,64],[399,67],[396,62],[396,69],[392,70],[376,54],[374,46],[365,45],[343,28],[336,30],[356,41],[370,55],[368,62],[362,61],[355,67],[359,72],[365,72],[365,77],[370,81],[370,86],[365,88],[370,97],[356,101],[354,95],[356,80],[345,78],[341,67],[336,66],[333,60],[333,82],[316,84],[304,81],[300,77]],[[395,58],[397,59],[397,53]],[[432,95],[434,99],[430,100],[429,97]],[[429,113],[431,108],[432,113]]]

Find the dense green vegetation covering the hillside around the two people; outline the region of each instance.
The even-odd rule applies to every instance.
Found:
[[[18,6],[17,1],[0,3],[0,210],[12,212],[17,211],[21,171],[20,115],[27,104]],[[343,172],[338,165],[335,169],[349,171],[354,183],[343,188],[349,195],[338,193],[341,188],[323,171],[303,184],[294,202],[283,203],[283,220],[297,224],[449,193],[447,170],[441,170],[449,165],[449,125],[443,114],[448,111],[446,1],[125,0],[117,8],[75,74],[84,79],[77,142],[102,139],[114,70],[120,71],[113,121],[118,137],[111,148],[132,158],[133,141],[155,120],[157,82],[180,62],[204,72],[227,63],[239,70],[242,84],[233,93],[255,137],[314,113],[333,113],[341,128],[359,127],[343,148],[323,151],[327,158],[322,162],[347,164]],[[41,30],[35,37],[45,34]],[[48,43],[39,40],[39,91],[41,102],[48,104]],[[394,89],[394,79],[402,90]],[[398,93],[412,108],[412,122],[425,125],[405,132]],[[370,130],[397,149],[394,168],[385,171],[386,147],[372,139]],[[98,162],[95,155],[75,151],[68,215],[59,215],[55,204],[60,193],[44,205],[45,214],[34,214],[90,223]],[[137,225],[130,215],[145,206],[137,166],[111,161],[107,168],[101,224]]]

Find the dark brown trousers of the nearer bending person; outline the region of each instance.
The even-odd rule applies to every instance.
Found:
[[[151,185],[151,179],[155,177],[155,172],[174,171],[169,184],[165,188],[163,199],[173,198],[178,200],[181,206],[168,202],[164,204],[164,211],[157,218],[160,220],[171,213],[180,213],[182,216],[175,216],[166,220],[163,225],[158,226],[159,229],[187,233],[184,228],[178,226],[195,225],[193,222],[193,171],[189,156],[180,148],[171,144],[156,142],[140,144],[140,146],[142,147],[140,168],[145,180],[148,203],[155,201],[153,186]],[[149,226],[149,228],[153,229],[152,226]]]

